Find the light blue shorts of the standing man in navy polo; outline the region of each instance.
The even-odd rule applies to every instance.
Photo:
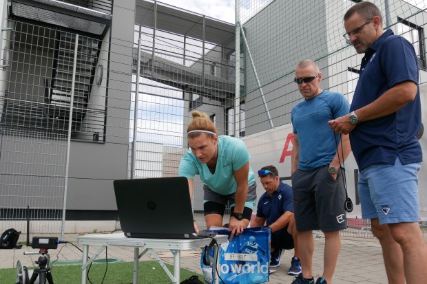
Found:
[[[419,221],[418,176],[421,163],[373,164],[360,171],[358,191],[363,219],[380,224]]]

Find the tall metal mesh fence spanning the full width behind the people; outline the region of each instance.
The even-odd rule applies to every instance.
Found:
[[[289,158],[283,162],[280,156],[291,108],[300,100],[295,65],[313,58],[324,74],[322,87],[351,101],[360,55],[342,41],[342,16],[355,1],[237,3],[237,28],[158,1],[137,1],[133,30],[97,34],[3,17],[1,228],[25,229],[22,222],[30,216],[32,233],[58,233],[65,230],[65,209],[97,210],[104,203],[99,210],[114,210],[114,197],[103,188],[112,187],[116,168],[128,178],[177,175],[195,109],[211,117],[220,135],[244,140],[254,170],[268,162],[289,177]],[[418,8],[406,1],[375,3],[390,14],[386,27],[414,43],[422,64],[424,1],[417,1],[424,5]],[[114,32],[133,33],[133,39],[118,40]],[[425,72],[421,65],[420,85],[427,82]],[[425,140],[424,135],[424,146]],[[92,158],[101,149],[103,155]],[[91,158],[84,160],[85,155]],[[99,168],[87,171],[85,163]],[[425,174],[420,176],[426,184]],[[351,190],[356,201],[354,186]],[[202,200],[196,178],[200,229],[205,228]],[[367,221],[351,217],[343,235],[372,237]]]

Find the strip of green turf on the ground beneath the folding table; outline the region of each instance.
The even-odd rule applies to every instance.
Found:
[[[166,264],[174,274],[173,266]],[[94,264],[89,271],[89,279],[92,283],[100,284],[103,280],[105,273],[105,264]],[[107,274],[105,275],[105,284],[129,284],[132,283],[133,277],[132,262],[110,263],[107,267]],[[32,270],[33,268],[29,268]],[[1,284],[14,284],[16,280],[15,269],[2,269],[0,270],[0,283]],[[76,284],[81,283],[81,265],[58,265],[51,267],[52,280],[55,284]],[[191,275],[198,275],[202,281],[203,276],[195,272],[181,269],[180,282],[189,278]],[[31,275],[29,276],[31,277]],[[87,283],[90,283],[89,280]],[[140,261],[138,265],[138,283],[145,284],[163,284],[171,283],[171,280],[165,273],[157,261]]]

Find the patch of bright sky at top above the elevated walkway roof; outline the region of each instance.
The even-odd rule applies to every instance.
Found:
[[[235,22],[235,0],[162,0],[161,2],[228,23]]]

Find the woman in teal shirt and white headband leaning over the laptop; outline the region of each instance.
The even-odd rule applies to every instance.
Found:
[[[256,203],[255,175],[249,166],[251,156],[238,138],[216,134],[216,127],[205,113],[194,111],[187,127],[190,151],[179,166],[179,175],[187,177],[193,198],[194,176],[200,175],[203,208],[207,228],[222,227],[225,206],[229,201],[231,238],[249,225]],[[194,225],[196,232],[198,228]]]

